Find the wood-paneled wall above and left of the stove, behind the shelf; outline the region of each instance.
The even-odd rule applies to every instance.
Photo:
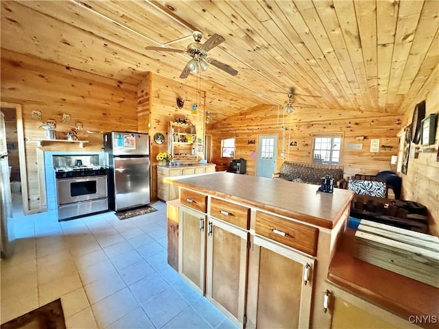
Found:
[[[84,132],[78,138],[89,141],[84,149],[76,143],[47,143],[45,151],[102,151],[102,132],[137,131],[136,94],[135,85],[1,49],[1,101],[23,106],[29,210],[42,208],[33,141],[45,138],[41,124],[55,119],[57,137],[64,139],[80,121]],[[32,119],[33,110],[42,113],[41,121]],[[63,113],[71,116],[70,122],[62,122]]]

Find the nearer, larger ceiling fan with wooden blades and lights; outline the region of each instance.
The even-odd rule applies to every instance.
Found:
[[[224,39],[219,34],[213,34],[213,36],[207,39],[206,42],[201,43],[200,42],[202,39],[201,32],[195,31],[193,32],[192,35],[193,35],[193,40],[195,40],[195,42],[190,43],[187,46],[187,50],[164,48],[164,47],[145,47],[145,49],[189,54],[189,56],[191,56],[192,59],[189,60],[189,62],[185,66],[185,69],[183,69],[182,73],[180,74],[180,78],[182,79],[187,78],[189,76],[189,73],[191,72],[198,73],[200,71],[206,71],[206,69],[209,67],[209,64],[216,66],[218,69],[221,69],[222,71],[230,75],[237,75],[238,71],[233,69],[228,64],[224,64],[222,62],[214,60],[213,58],[207,57],[207,52],[209,50],[211,50],[213,47],[216,47],[220,43],[224,42],[226,39]]]

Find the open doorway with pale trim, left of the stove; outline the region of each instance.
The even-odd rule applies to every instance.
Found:
[[[29,207],[27,202],[27,176],[21,105],[2,101],[1,112],[5,116],[6,146],[8,149],[14,210],[17,210],[17,204],[21,204],[22,213],[20,215],[27,215]]]

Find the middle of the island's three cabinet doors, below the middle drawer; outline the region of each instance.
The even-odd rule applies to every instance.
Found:
[[[248,231],[208,219],[206,297],[231,321],[244,326]]]

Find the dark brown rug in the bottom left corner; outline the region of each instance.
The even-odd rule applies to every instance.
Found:
[[[66,329],[61,300],[54,300],[49,304],[16,317],[0,326],[1,329]]]

